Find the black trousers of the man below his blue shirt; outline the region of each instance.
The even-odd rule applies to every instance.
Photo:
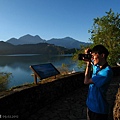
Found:
[[[108,120],[108,114],[99,114],[88,109],[89,120]]]

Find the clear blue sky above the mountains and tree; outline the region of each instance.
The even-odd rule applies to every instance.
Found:
[[[120,13],[120,0],[0,0],[0,41],[30,34],[90,42],[93,19],[110,8]]]

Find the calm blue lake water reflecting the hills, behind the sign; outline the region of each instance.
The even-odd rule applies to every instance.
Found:
[[[69,71],[73,69],[80,71],[77,63],[72,60],[71,56],[51,56],[51,55],[9,55],[0,56],[0,72],[12,73],[6,89],[14,86],[33,83],[31,76],[32,71],[29,68],[33,64],[52,63],[56,68],[61,67],[62,63],[66,64]]]

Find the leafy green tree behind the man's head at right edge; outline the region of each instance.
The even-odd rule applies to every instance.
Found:
[[[112,9],[106,12],[106,16],[94,19],[90,41],[93,46],[96,44],[104,45],[110,52],[108,62],[116,65],[120,60],[120,14],[114,13]]]

